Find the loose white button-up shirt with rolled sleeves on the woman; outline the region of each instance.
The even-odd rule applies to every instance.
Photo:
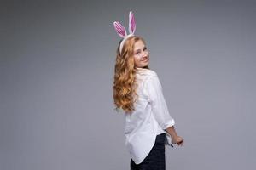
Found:
[[[166,133],[166,145],[172,145],[165,131],[175,122],[170,116],[156,72],[137,68],[137,102],[135,111],[125,113],[125,146],[131,159],[141,163],[154,146],[156,135]]]

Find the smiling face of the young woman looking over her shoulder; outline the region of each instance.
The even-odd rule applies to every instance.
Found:
[[[146,48],[142,40],[139,40],[134,43],[133,56],[134,56],[134,64],[136,67],[142,68],[148,65],[149,53],[148,53],[148,49]]]

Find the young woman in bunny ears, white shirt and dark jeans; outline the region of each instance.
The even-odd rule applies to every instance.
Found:
[[[125,146],[131,155],[131,169],[165,170],[165,145],[183,145],[183,138],[174,128],[160,80],[148,67],[146,43],[134,35],[132,12],[129,19],[129,35],[119,22],[114,22],[123,39],[117,49],[113,100],[117,111],[125,114]]]

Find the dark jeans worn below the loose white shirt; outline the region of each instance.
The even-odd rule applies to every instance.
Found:
[[[131,159],[131,170],[166,170],[165,139],[165,133],[157,135],[152,150],[143,162],[136,164]]]

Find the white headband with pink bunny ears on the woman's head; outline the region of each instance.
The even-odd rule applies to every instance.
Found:
[[[122,42],[120,43],[120,47],[119,47],[119,52],[121,54],[122,48],[123,48],[124,43],[125,43],[125,40],[128,37],[133,36],[134,35],[134,31],[136,29],[134,14],[131,11],[129,13],[129,35],[127,35],[125,27],[122,26],[119,22],[114,21],[113,22],[113,27],[114,27],[115,31],[118,33],[119,37],[123,38]]]

